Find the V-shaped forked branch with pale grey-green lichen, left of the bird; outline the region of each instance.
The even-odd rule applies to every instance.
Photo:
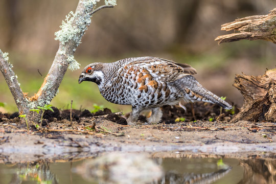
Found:
[[[4,75],[7,84],[14,97],[19,113],[28,114],[29,119],[35,119],[33,113],[29,110],[45,104],[50,104],[52,99],[58,92],[58,87],[63,79],[67,68],[76,70],[80,68],[80,64],[75,60],[74,53],[81,43],[81,38],[84,35],[87,27],[91,23],[91,14],[102,8],[112,8],[116,5],[116,0],[105,0],[105,6],[95,10],[97,3],[100,0],[80,0],[75,12],[70,12],[62,25],[61,30],[55,33],[56,40],[59,40],[59,49],[56,53],[53,64],[49,70],[47,77],[33,97],[27,97],[27,93],[22,93],[17,76],[12,71],[12,65],[8,63],[6,53],[0,50],[0,68]]]

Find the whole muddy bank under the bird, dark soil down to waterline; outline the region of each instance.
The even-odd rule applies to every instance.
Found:
[[[125,116],[103,109],[45,111],[39,129],[19,121],[18,113],[0,113],[0,163],[38,159],[93,157],[103,151],[218,154],[228,157],[275,157],[276,124],[239,121],[229,123],[235,111],[209,103],[165,106],[162,122],[128,126]],[[194,113],[192,113],[194,112]],[[72,121],[71,115],[72,114]]]

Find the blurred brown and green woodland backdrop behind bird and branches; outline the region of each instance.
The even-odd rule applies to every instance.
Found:
[[[61,20],[77,7],[78,0],[1,0],[0,49],[10,62],[24,92],[34,95],[50,69],[59,42],[54,33]],[[118,0],[112,9],[94,14],[75,59],[81,69],[68,70],[52,104],[61,109],[93,110],[93,104],[113,111],[131,107],[107,102],[94,83],[78,84],[79,75],[91,62],[113,62],[127,57],[154,56],[191,64],[197,80],[226,101],[241,106],[243,98],[232,86],[235,74],[262,75],[276,65],[276,44],[238,41],[218,45],[214,39],[230,32],[220,26],[250,15],[267,14],[273,0]],[[2,111],[17,110],[2,74]]]

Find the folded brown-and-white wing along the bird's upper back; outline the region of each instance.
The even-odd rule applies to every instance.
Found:
[[[152,80],[173,82],[187,75],[196,74],[195,68],[188,64],[175,63],[166,59],[154,57],[131,58],[124,66],[127,74],[139,73],[139,78],[150,77]]]

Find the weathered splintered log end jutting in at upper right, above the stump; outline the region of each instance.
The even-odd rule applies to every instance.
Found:
[[[218,36],[218,43],[248,40],[266,40],[276,43],[276,8],[267,15],[255,15],[236,19],[233,22],[221,26],[221,30],[239,31],[227,35]]]

